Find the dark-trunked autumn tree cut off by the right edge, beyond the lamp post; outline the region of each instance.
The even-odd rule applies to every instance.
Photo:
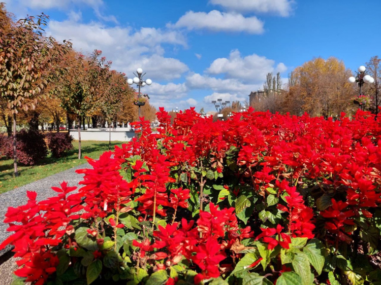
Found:
[[[369,62],[366,63],[366,67],[367,74],[374,79],[374,83],[369,84],[368,86],[368,92],[371,97],[369,109],[376,115],[375,119],[377,119],[379,113],[378,107],[381,104],[381,59],[378,56],[371,57]]]

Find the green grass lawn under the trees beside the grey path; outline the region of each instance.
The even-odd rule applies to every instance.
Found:
[[[114,145],[121,146],[123,142],[112,141]],[[37,181],[44,177],[67,170],[74,166],[86,163],[85,156],[98,159],[102,153],[108,151],[108,141],[86,140],[81,142],[82,159],[78,159],[78,141],[73,141],[73,149],[62,158],[54,158],[49,154],[44,160],[33,166],[18,165],[20,175],[13,175],[13,159],[0,158],[0,193]]]

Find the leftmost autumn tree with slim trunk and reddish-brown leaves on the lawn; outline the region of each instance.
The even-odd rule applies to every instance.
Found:
[[[0,7],[2,18],[7,17],[4,4]],[[42,90],[61,71],[58,61],[71,48],[68,42],[58,44],[52,37],[45,37],[42,27],[47,19],[42,14],[0,26],[0,94],[13,117],[15,176],[18,176],[16,114],[21,109],[35,108],[42,99]],[[4,22],[2,19],[1,23]]]

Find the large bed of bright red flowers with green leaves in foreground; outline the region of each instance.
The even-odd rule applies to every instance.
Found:
[[[9,208],[0,247],[17,283],[380,284],[381,121],[343,116],[161,109],[78,193]]]

